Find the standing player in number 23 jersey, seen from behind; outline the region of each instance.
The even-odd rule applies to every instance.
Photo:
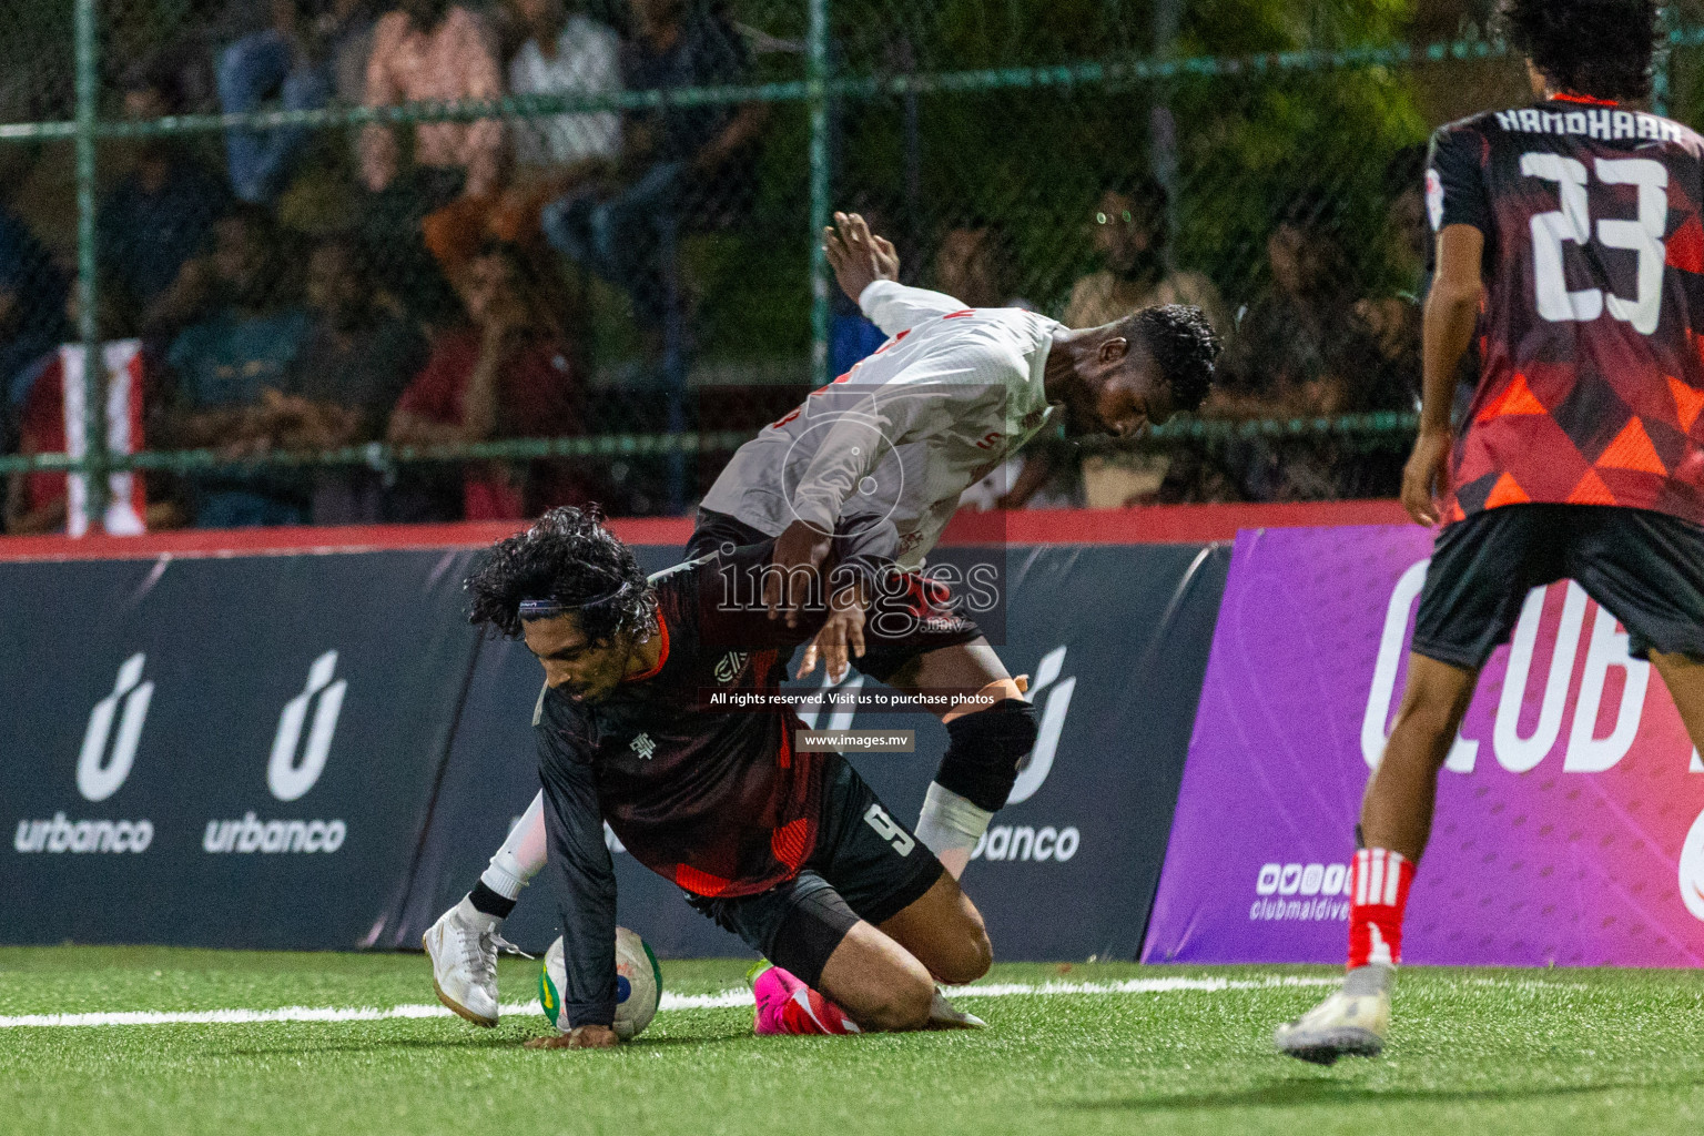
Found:
[[[1651,90],[1655,0],[1500,9],[1539,102],[1433,138],[1438,240],[1402,504],[1440,530],[1355,828],[1348,972],[1273,1037],[1321,1064],[1384,1049],[1436,780],[1535,588],[1571,579],[1626,625],[1627,654],[1649,659],[1704,744],[1704,140],[1617,102]],[[1479,382],[1455,421],[1474,344]]]

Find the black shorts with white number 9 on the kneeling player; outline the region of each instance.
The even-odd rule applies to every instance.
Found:
[[[832,754],[823,772],[816,852],[799,874],[755,896],[687,896],[687,903],[815,988],[828,955],[859,920],[888,921],[944,872],[935,853],[878,800],[857,770]]]

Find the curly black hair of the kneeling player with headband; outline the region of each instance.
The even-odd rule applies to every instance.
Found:
[[[608,642],[617,632],[644,639],[656,630],[656,593],[595,504],[550,509],[525,533],[499,540],[462,588],[474,598],[469,622],[508,639],[521,635],[525,600],[573,608],[591,642]]]

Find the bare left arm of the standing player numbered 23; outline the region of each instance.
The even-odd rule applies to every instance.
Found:
[[[1450,407],[1455,376],[1479,318],[1479,262],[1486,237],[1472,225],[1447,225],[1438,233],[1438,274],[1426,296],[1421,330],[1419,438],[1402,470],[1402,506],[1416,525],[1438,523],[1438,496],[1448,491]]]

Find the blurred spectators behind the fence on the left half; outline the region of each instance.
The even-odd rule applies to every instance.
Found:
[[[394,107],[736,83],[741,34],[714,7],[630,0],[620,32],[567,0],[233,0],[123,72],[123,114]],[[651,332],[676,303],[687,228],[750,196],[763,107],[530,112],[150,135],[99,203],[99,336],[141,344],[148,448],[227,456],[390,441],[573,436],[588,404],[584,291]],[[112,155],[102,155],[111,158]],[[0,177],[5,451],[65,450],[70,257]],[[521,518],[600,499],[654,508],[590,460],[218,468],[148,477],[153,526]],[[63,475],[10,480],[5,528],[65,523]],[[654,497],[654,492],[653,492]]]

